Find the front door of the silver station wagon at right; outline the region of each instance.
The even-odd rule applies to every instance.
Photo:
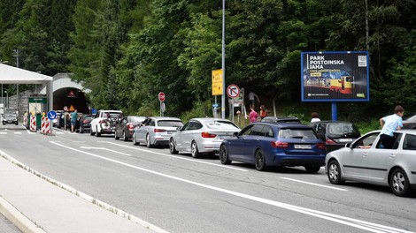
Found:
[[[374,153],[374,141],[378,139],[379,132],[367,134],[356,141],[351,150],[343,154],[343,172],[345,177],[366,179],[368,177],[368,156]],[[360,146],[371,146],[371,148],[360,148]]]

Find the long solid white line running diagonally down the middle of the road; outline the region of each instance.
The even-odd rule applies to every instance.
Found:
[[[258,201],[260,203],[264,203],[264,204],[267,204],[267,205],[270,205],[270,206],[273,206],[273,207],[281,207],[281,208],[288,209],[288,210],[291,210],[291,211],[294,211],[294,212],[297,212],[297,213],[302,213],[302,214],[315,216],[315,217],[320,218],[320,219],[325,219],[327,221],[341,223],[341,224],[351,226],[351,227],[357,228],[357,229],[364,229],[364,230],[367,230],[367,231],[370,231],[370,232],[375,232],[375,233],[386,233],[386,232],[388,232],[388,233],[390,233],[390,232],[391,233],[393,233],[393,232],[406,232],[406,233],[409,232],[410,233],[410,232],[412,232],[412,231],[407,231],[407,230],[404,230],[404,229],[396,229],[396,228],[384,226],[384,225],[381,225],[381,224],[376,224],[376,223],[373,223],[373,222],[366,222],[366,221],[361,221],[361,220],[358,220],[358,219],[344,217],[344,216],[337,215],[337,214],[330,214],[330,213],[326,213],[326,212],[322,212],[322,211],[318,211],[318,210],[314,210],[314,209],[310,209],[310,208],[297,207],[297,206],[294,206],[294,205],[285,204],[285,203],[275,201],[275,200],[271,200],[271,199],[258,198],[256,196],[252,196],[252,195],[249,195],[249,194],[244,194],[244,193],[241,193],[241,192],[234,192],[234,191],[222,189],[222,188],[215,187],[215,186],[208,185],[208,184],[197,183],[197,182],[190,181],[190,180],[187,180],[187,179],[183,179],[183,178],[180,178],[180,177],[173,177],[173,176],[166,175],[166,174],[158,172],[158,171],[154,171],[154,170],[150,170],[150,169],[143,169],[143,168],[128,164],[126,162],[119,162],[119,161],[109,159],[109,158],[106,158],[106,157],[103,157],[103,156],[100,156],[100,155],[91,154],[89,152],[84,152],[84,151],[81,151],[81,150],[78,150],[78,149],[74,149],[72,147],[66,147],[65,145],[58,144],[57,142],[54,142],[54,141],[50,141],[50,143],[53,143],[53,144],[55,144],[59,147],[65,147],[67,149],[70,149],[70,150],[73,150],[73,151],[76,151],[76,152],[80,152],[80,153],[83,153],[83,154],[89,154],[93,157],[103,159],[103,160],[108,161],[108,162],[114,162],[114,163],[117,163],[119,165],[123,165],[123,166],[126,166],[128,168],[131,168],[131,169],[142,170],[142,171],[154,174],[154,175],[158,175],[160,177],[170,178],[170,179],[181,181],[181,182],[184,182],[184,183],[187,183],[187,184],[194,184],[196,186],[203,187],[203,188],[206,188],[206,189],[214,190],[214,191],[217,191],[217,192],[224,192],[224,193],[234,195],[236,197],[240,197],[240,198],[243,198],[243,199],[250,199],[250,200]]]

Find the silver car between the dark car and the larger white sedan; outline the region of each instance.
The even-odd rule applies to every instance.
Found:
[[[173,132],[183,126],[180,118],[167,116],[147,117],[141,125],[135,127],[132,140],[134,145],[140,143],[147,147],[167,146]]]

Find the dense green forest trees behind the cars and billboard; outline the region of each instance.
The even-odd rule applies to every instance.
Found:
[[[158,114],[163,91],[166,115],[212,115],[222,1],[9,0],[0,9],[0,59],[12,63],[19,49],[27,70],[73,72],[96,108]],[[309,117],[327,106],[300,103],[300,52],[368,50],[371,101],[340,104],[341,118],[415,109],[415,10],[412,0],[228,0],[227,85]]]

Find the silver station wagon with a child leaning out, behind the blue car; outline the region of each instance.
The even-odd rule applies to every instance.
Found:
[[[416,131],[395,132],[396,142],[383,147],[380,131],[368,132],[326,157],[329,182],[358,181],[381,184],[397,196],[408,196],[416,188]]]

